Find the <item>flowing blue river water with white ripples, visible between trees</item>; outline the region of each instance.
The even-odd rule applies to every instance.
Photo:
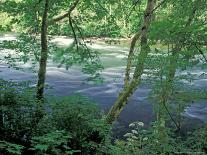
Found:
[[[15,39],[12,36],[1,37],[1,40]],[[71,43],[70,39],[57,37],[52,40],[60,45],[67,45]],[[53,96],[67,96],[73,93],[80,93],[87,95],[92,100],[96,101],[102,111],[106,112],[116,100],[120,90],[123,87],[123,77],[125,71],[125,63],[128,48],[93,44],[93,49],[101,50],[101,61],[105,65],[102,76],[105,79],[103,84],[91,85],[85,83],[86,75],[84,75],[77,67],[66,70],[63,67],[57,68],[57,64],[52,61],[48,62],[46,83],[52,87],[47,93]],[[1,51],[0,55],[4,55],[5,51]],[[27,67],[23,65],[23,67]],[[201,89],[207,88],[207,70],[191,69],[191,73],[198,75],[192,87]],[[182,74],[187,74],[183,72]],[[30,71],[23,72],[8,68],[7,65],[0,62],[0,78],[5,80],[23,81],[30,80],[37,81],[37,74]],[[143,77],[144,78],[144,77]],[[143,84],[137,89],[134,95],[130,98],[127,106],[122,111],[118,121],[116,122],[116,129],[122,132],[129,123],[134,121],[142,121],[148,124],[154,119],[152,101],[148,99],[151,88],[147,84]],[[186,118],[194,120],[194,122],[205,122],[207,120],[207,99],[196,101],[192,106],[186,108],[183,114]],[[118,131],[118,130],[117,130]]]

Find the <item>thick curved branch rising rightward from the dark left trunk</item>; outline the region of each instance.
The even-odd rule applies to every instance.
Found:
[[[64,13],[63,15],[58,15],[56,18],[49,20],[48,25],[52,25],[58,21],[63,20],[64,18],[68,17],[71,14],[71,12],[76,8],[79,1],[80,0],[75,0],[74,3],[70,6],[69,10],[66,13]]]

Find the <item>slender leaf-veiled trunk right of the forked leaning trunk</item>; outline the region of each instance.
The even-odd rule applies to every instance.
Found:
[[[196,2],[195,2],[196,3]],[[196,13],[196,7],[193,8],[191,15],[188,18],[188,21],[184,25],[184,28],[187,28],[188,26],[191,25],[192,20],[195,16]],[[175,73],[176,73],[176,68],[177,68],[177,62],[179,60],[179,52],[182,49],[182,41],[177,42],[175,47],[171,51],[171,55],[169,56],[170,62],[169,62],[169,69],[168,69],[168,74],[166,77],[166,80],[164,82],[161,94],[160,94],[160,101],[159,101],[159,111],[158,111],[158,132],[159,132],[159,141],[160,143],[167,143],[167,134],[165,132],[165,116],[166,116],[166,111],[170,115],[171,120],[174,122],[176,128],[178,131],[180,131],[180,123],[177,123],[176,120],[172,117],[168,110],[168,100],[170,95],[172,94],[173,91],[173,81],[175,78]],[[180,106],[180,105],[179,105]],[[164,110],[163,110],[164,109]],[[164,148],[162,147],[163,151]]]

